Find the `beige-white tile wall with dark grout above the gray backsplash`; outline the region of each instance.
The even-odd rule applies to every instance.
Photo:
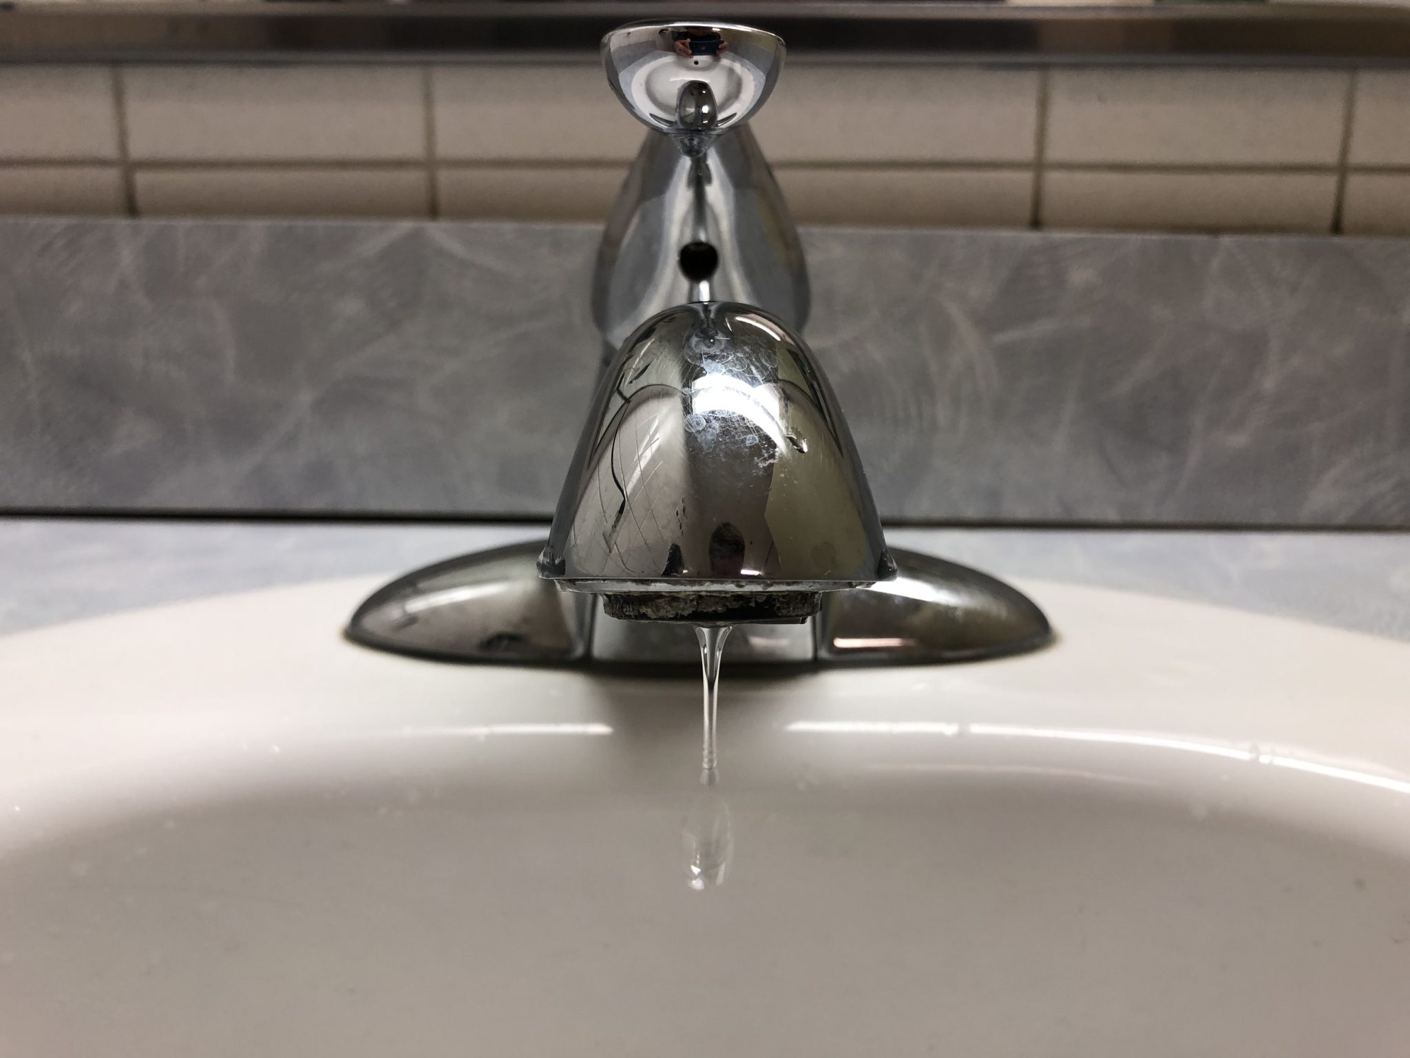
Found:
[[[792,62],[754,130],[808,223],[1410,234],[1410,71]],[[591,62],[4,66],[0,212],[601,220],[640,138]]]

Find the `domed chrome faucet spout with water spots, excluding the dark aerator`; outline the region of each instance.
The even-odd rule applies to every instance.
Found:
[[[649,320],[608,367],[540,570],[580,591],[815,592],[894,567],[802,339],[711,302]]]

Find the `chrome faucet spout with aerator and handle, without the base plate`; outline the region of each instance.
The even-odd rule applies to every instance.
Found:
[[[814,616],[890,580],[871,491],[798,337],[802,244],[749,130],[784,42],[744,25],[643,23],[602,39],[647,127],[598,251],[616,351],[539,570],[618,619]]]

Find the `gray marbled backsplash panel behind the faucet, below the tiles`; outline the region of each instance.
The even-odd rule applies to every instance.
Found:
[[[547,515],[596,234],[0,221],[0,508]],[[1410,525],[1410,240],[805,244],[887,518]]]

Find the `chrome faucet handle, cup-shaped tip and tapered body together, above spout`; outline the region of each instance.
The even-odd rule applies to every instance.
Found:
[[[643,23],[602,38],[608,83],[647,126],[598,248],[592,315],[612,351],[689,302],[757,305],[801,330],[808,272],[784,195],[744,123],[784,59],[770,32]]]

